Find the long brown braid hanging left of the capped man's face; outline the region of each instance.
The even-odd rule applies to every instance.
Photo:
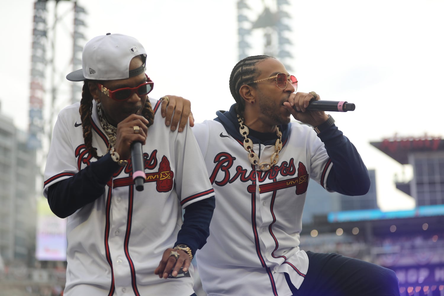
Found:
[[[82,99],[80,100],[80,107],[79,107],[79,113],[80,113],[80,119],[82,120],[82,129],[83,129],[83,139],[85,141],[86,149],[88,150],[88,153],[94,157],[99,159],[97,155],[97,150],[94,149],[92,146],[92,100],[93,97],[91,95],[91,92],[89,91],[88,82],[91,80],[85,80],[83,82],[83,88],[82,88]]]

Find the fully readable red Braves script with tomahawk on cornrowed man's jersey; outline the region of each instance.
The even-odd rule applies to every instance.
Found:
[[[210,175],[211,184],[224,186],[228,183],[233,183],[237,179],[241,182],[255,182],[256,179],[258,182],[264,182],[267,178],[269,180],[275,180],[279,175],[286,177],[294,176],[297,173],[295,178],[259,185],[259,191],[261,193],[266,193],[293,186],[296,186],[296,194],[298,195],[307,191],[309,174],[302,162],[299,162],[297,171],[293,158],[291,158],[289,162],[282,162],[280,166],[273,166],[266,172],[251,170],[251,168],[247,170],[242,168],[242,166],[237,166],[234,175],[231,176],[230,168],[233,166],[235,159],[234,156],[226,152],[221,152],[216,155],[214,158],[214,163],[216,165]],[[222,176],[222,180],[220,181],[216,181],[216,176],[218,174]],[[256,192],[256,185],[249,185],[247,190],[249,193]]]

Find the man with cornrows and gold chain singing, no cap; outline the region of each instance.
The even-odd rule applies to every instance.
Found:
[[[242,59],[230,76],[236,103],[193,127],[218,197],[196,254],[202,287],[209,296],[399,296],[387,268],[299,248],[309,179],[346,195],[367,193],[370,180],[333,118],[306,110],[319,95],[296,89],[277,59]]]

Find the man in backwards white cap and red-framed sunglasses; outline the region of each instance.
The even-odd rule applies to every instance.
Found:
[[[108,33],[85,45],[82,69],[67,75],[83,81],[82,99],[59,113],[44,181],[52,211],[67,217],[65,296],[195,295],[190,262],[209,235],[214,190],[189,106],[172,97],[171,129],[163,123],[171,106],[148,97],[146,60],[138,40]],[[143,144],[138,191],[133,142]]]

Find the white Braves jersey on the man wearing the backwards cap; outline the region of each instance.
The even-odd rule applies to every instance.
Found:
[[[156,112],[159,101],[151,99]],[[107,153],[108,139],[93,103],[92,146]],[[45,169],[48,187],[70,178],[95,161],[87,153],[79,103],[58,116]],[[191,128],[178,133],[165,126],[160,111],[143,146],[147,179],[136,191],[128,166],[115,173],[103,196],[67,218],[67,276],[64,295],[193,294],[194,270],[182,277],[154,274],[163,252],[174,246],[182,208],[214,195]]]

